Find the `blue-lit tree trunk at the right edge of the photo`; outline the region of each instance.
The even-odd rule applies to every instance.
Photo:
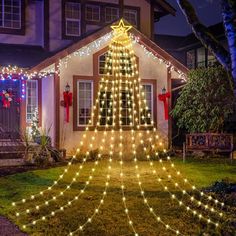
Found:
[[[231,57],[231,74],[236,84],[236,2],[221,0],[221,7]]]

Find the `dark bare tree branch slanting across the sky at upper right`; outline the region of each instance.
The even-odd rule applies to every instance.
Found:
[[[198,19],[193,6],[188,0],[176,0],[180,9],[184,13],[187,22],[191,25],[192,31],[201,43],[215,55],[220,64],[231,71],[231,58],[228,51],[220,42],[210,33]]]

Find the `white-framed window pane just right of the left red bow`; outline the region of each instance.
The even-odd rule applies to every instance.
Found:
[[[78,81],[77,82],[77,101],[78,101],[78,126],[86,126],[91,120],[92,104],[93,104],[93,82]]]

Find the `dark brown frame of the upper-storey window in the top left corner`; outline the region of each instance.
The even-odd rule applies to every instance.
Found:
[[[0,0],[4,1],[4,0]],[[15,35],[25,35],[25,7],[26,7],[26,0],[19,0],[20,1],[20,28],[10,28],[0,26],[0,34],[15,34]],[[4,5],[4,4],[3,4]],[[4,12],[3,12],[4,14]],[[3,18],[4,16],[2,16]]]

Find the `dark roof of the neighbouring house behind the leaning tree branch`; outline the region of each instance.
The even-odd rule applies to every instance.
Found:
[[[222,22],[209,26],[208,30],[218,39],[225,37],[225,31]],[[196,38],[194,33],[188,34],[186,36],[156,34],[155,42],[165,50],[172,51],[180,51],[195,45],[201,45],[201,42]]]

